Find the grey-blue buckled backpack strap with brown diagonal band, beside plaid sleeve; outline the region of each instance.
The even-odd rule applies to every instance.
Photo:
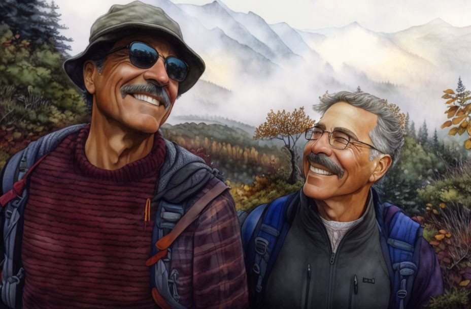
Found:
[[[160,222],[159,229],[154,227],[154,236],[159,239],[155,242],[155,248],[158,250],[156,254],[150,257],[146,261],[146,265],[151,267],[151,277],[154,277],[153,282],[151,283],[152,288],[152,297],[154,301],[163,309],[167,308],[184,308],[181,304],[178,303],[178,294],[177,299],[174,298],[176,294],[176,285],[175,281],[178,277],[178,273],[172,271],[170,274],[167,272],[165,263],[170,264],[170,253],[171,249],[169,248],[172,243],[177,239],[177,237],[198,217],[201,211],[216,197],[222,194],[228,187],[222,181],[218,181],[217,184],[211,188],[205,195],[199,198],[183,215],[183,207],[179,207],[170,203],[161,202],[159,208],[163,211],[157,211],[160,213],[161,218],[165,218],[167,222],[158,220]],[[168,221],[173,221],[176,223],[170,223]],[[157,223],[157,220],[156,220]],[[173,227],[172,227],[173,225]],[[162,237],[162,229],[171,227],[172,230],[170,233]],[[156,231],[160,230],[160,231]],[[154,237],[153,237],[154,238]],[[155,239],[154,239],[155,240]],[[153,249],[155,251],[155,249]],[[170,292],[170,285],[173,286],[173,292]]]

